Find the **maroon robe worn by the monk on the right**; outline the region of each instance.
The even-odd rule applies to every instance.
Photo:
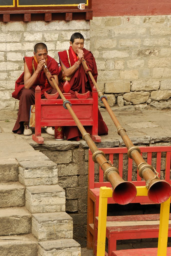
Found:
[[[88,68],[92,69],[92,71],[93,71],[92,75],[93,75],[95,81],[97,82],[98,73],[97,73],[97,66],[96,66],[95,58],[94,58],[93,54],[90,51],[86,50],[85,48],[83,48],[83,52],[84,52],[84,59],[86,60],[86,64],[87,64]],[[68,61],[67,52],[66,51],[58,52],[58,55],[59,55],[60,64],[62,62],[66,68],[69,68],[70,64]],[[69,57],[70,57],[71,66],[73,66],[75,63],[75,60],[74,60],[74,57],[71,52],[71,47],[69,49]],[[64,83],[65,82],[59,83],[59,87],[62,92],[63,92],[63,84]],[[92,88],[93,88],[94,84],[93,84],[89,74],[86,75],[82,64],[79,65],[79,68],[72,75],[72,77],[70,79],[70,86],[71,86],[70,93],[71,93],[72,99],[76,98],[75,91],[77,91],[78,93],[86,93],[87,91],[90,91],[89,98],[92,98]],[[84,128],[88,133],[91,134],[92,128],[90,126],[84,126]],[[74,138],[76,141],[78,141],[79,136],[82,136],[81,133],[79,132],[77,126],[66,126],[64,129],[64,132],[65,132],[65,136],[66,136],[67,140]],[[108,134],[108,128],[107,128],[107,125],[105,124],[105,122],[103,121],[101,113],[98,109],[98,135],[101,135],[101,134]]]

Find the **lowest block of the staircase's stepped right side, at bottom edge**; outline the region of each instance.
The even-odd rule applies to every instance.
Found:
[[[39,242],[38,256],[81,256],[81,247],[74,239]]]

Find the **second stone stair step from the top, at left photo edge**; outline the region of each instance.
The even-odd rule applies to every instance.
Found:
[[[0,183],[0,208],[25,205],[25,186],[19,182]]]

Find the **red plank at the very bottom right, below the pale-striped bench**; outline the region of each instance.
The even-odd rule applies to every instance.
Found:
[[[112,256],[156,256],[157,248],[129,249],[113,251]],[[167,256],[171,256],[171,247],[167,247]]]

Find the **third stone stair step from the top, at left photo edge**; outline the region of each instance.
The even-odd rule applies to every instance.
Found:
[[[0,236],[31,233],[31,214],[25,207],[0,209]]]

